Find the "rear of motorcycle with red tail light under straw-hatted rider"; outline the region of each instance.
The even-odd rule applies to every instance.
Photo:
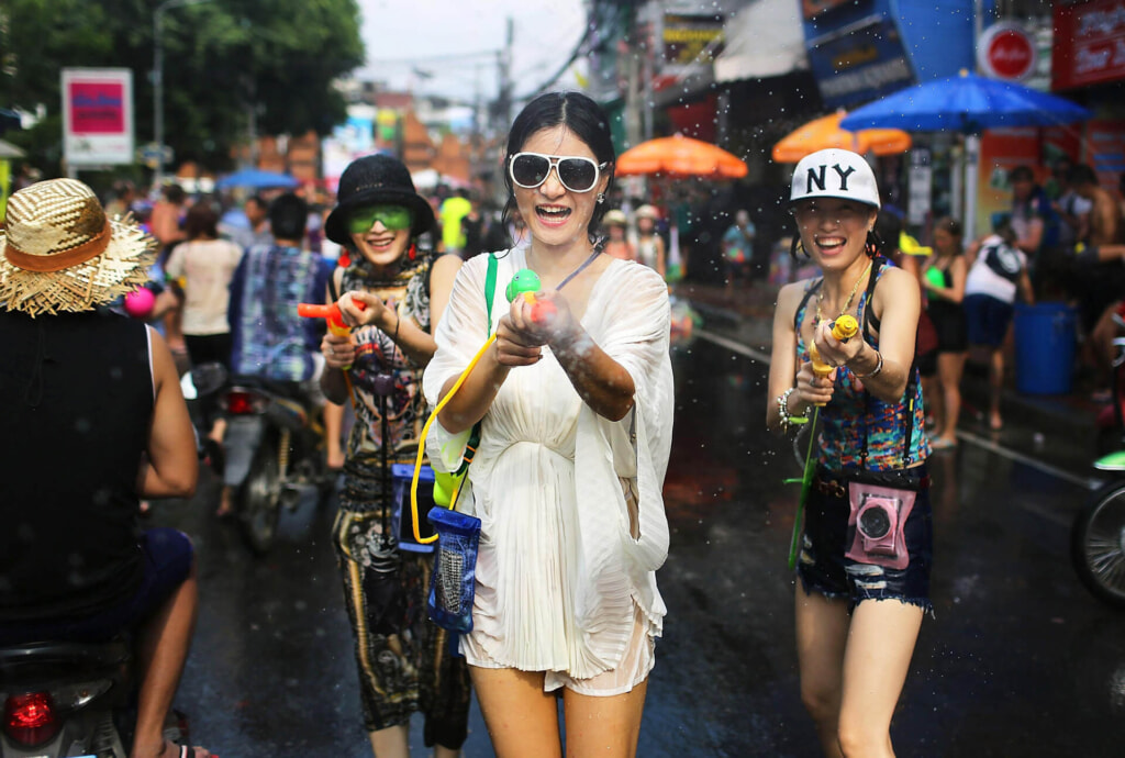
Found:
[[[124,638],[0,648],[0,758],[127,758],[130,661]]]

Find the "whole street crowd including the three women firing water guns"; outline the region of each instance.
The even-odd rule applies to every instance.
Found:
[[[459,755],[474,693],[498,756],[560,755],[564,731],[568,754],[633,756],[667,612],[668,285],[687,258],[673,213],[615,192],[608,124],[583,94],[529,102],[498,214],[469,190],[418,192],[387,155],[353,161],[331,200],[277,190],[232,205],[169,184],[148,204],[122,182],[102,202],[65,179],[16,192],[0,237],[0,431],[26,444],[0,461],[0,506],[42,507],[6,515],[20,527],[0,538],[0,642],[128,630],[142,651],[133,755],[210,755],[161,732],[199,603],[192,547],[138,520],[144,498],[194,493],[178,376],[219,362],[288,382],[323,414],[376,756],[408,755],[414,713],[436,756]],[[777,295],[766,423],[788,434],[819,419],[794,602],[801,695],[828,756],[892,755],[932,608],[926,461],[957,444],[970,351],[987,354],[999,430],[1018,298],[1073,299],[1091,357],[1122,312],[1120,209],[1088,166],[1053,179],[1043,189],[1015,169],[1011,211],[989,235],[966,241],[942,218],[922,251],[863,156],[820,151],[794,170],[791,254],[818,272]],[[716,243],[737,298],[757,231],[745,210],[729,222]],[[507,292],[528,271],[538,291]],[[130,309],[140,287],[154,297]],[[302,319],[298,303],[336,305],[346,333]],[[60,441],[73,417],[84,425]],[[220,460],[225,419],[209,407],[206,422]],[[420,449],[460,478],[452,505],[479,531],[467,626],[421,612],[434,558],[389,527],[403,504],[387,467]],[[58,455],[75,461],[65,480],[50,476]],[[235,508],[225,487],[218,515]],[[61,566],[35,544],[48,533]]]

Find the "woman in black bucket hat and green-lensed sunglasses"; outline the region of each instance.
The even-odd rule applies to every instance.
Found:
[[[368,155],[344,169],[324,224],[343,247],[328,301],[339,299],[356,327],[330,332],[321,343],[325,395],[336,404],[351,400],[356,409],[333,539],[356,638],[363,724],[378,758],[410,755],[414,712],[425,716],[423,739],[436,758],[459,755],[468,733],[465,660],[450,655],[446,630],[425,613],[433,556],[402,549],[384,507],[390,499],[384,453],[388,466],[414,464],[428,415],[421,375],[461,265],[457,255],[434,256],[418,245],[433,226],[430,204],[389,155]]]

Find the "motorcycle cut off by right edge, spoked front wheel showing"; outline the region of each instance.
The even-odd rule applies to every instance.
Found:
[[[1125,327],[1125,322],[1118,324]],[[1078,578],[1095,597],[1125,608],[1125,337],[1114,340],[1114,348],[1109,416],[1118,449],[1094,463],[1113,478],[1094,491],[1074,518],[1070,557]]]

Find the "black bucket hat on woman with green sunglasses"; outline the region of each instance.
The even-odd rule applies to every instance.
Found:
[[[336,207],[324,222],[324,233],[339,245],[351,241],[348,217],[363,206],[386,204],[410,208],[412,237],[433,228],[433,208],[414,189],[406,165],[389,155],[364,155],[349,163],[340,177],[336,198]]]

